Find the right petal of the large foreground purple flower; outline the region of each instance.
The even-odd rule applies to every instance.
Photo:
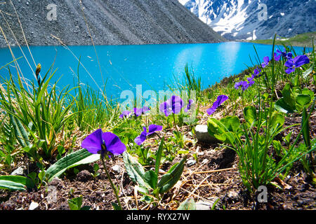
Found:
[[[104,132],[102,134],[102,139],[106,146],[106,150],[112,153],[113,155],[119,155],[126,151],[126,146],[121,142],[117,135],[111,132]]]

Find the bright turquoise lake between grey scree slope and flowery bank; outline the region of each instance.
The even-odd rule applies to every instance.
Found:
[[[107,96],[119,97],[123,90],[132,90],[136,94],[136,85],[142,85],[142,91],[167,90],[173,77],[183,78],[185,64],[193,70],[195,76],[201,76],[204,88],[219,82],[222,78],[237,74],[247,66],[256,64],[256,52],[261,59],[271,55],[272,45],[254,43],[200,43],[200,44],[161,44],[161,45],[96,45],[93,46],[32,46],[30,50],[35,64],[41,63],[41,76],[53,65],[55,73],[52,83],[58,81],[58,87],[77,83],[77,68],[81,85],[91,85],[98,91],[103,88]],[[276,46],[283,49],[283,47]],[[18,59],[23,76],[34,79],[36,66],[26,47],[12,48]],[[303,48],[294,48],[297,54]],[[96,52],[98,57],[96,56]],[[98,58],[98,59],[97,59]],[[8,48],[0,48],[0,67],[11,62]],[[98,64],[100,62],[100,66]],[[32,69],[30,68],[32,66]],[[0,70],[1,77],[8,76],[8,67],[16,75],[15,65]],[[102,75],[101,75],[102,73]]]

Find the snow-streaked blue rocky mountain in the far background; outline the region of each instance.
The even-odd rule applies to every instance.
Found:
[[[316,31],[315,0],[178,0],[230,40],[267,39]]]

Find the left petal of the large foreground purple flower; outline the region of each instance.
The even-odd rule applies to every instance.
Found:
[[[89,153],[98,154],[98,152],[102,150],[102,133],[102,130],[98,129],[92,134],[89,134],[88,137],[82,141],[81,147],[86,148]]]

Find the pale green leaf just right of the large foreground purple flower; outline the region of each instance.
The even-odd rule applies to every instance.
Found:
[[[150,186],[144,180],[145,170],[143,166],[140,165],[140,163],[135,158],[129,155],[127,151],[124,151],[123,153],[123,160],[126,172],[129,174],[131,180],[134,183],[138,183],[140,186],[150,188]]]

